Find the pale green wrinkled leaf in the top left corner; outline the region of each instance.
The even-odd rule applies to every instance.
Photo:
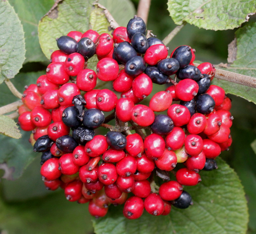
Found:
[[[25,59],[22,25],[8,1],[0,1],[0,84],[13,78]]]

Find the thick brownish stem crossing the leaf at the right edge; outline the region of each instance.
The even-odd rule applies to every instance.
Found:
[[[199,64],[194,63],[195,66]],[[248,87],[256,88],[256,78],[252,76],[245,76],[239,73],[235,73],[232,71],[222,70],[216,68],[215,78],[220,80],[226,80],[229,82],[233,82],[240,85],[245,85]]]

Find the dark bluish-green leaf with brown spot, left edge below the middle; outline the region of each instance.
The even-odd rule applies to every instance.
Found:
[[[18,140],[0,136],[0,168],[5,170],[3,178],[19,178],[23,170],[39,155],[33,152],[33,147],[28,141],[30,134],[22,131],[22,138]]]

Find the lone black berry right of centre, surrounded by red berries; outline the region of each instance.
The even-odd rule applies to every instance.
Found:
[[[167,135],[173,130],[174,124],[168,115],[159,114],[155,116],[155,120],[150,127],[153,133]]]

